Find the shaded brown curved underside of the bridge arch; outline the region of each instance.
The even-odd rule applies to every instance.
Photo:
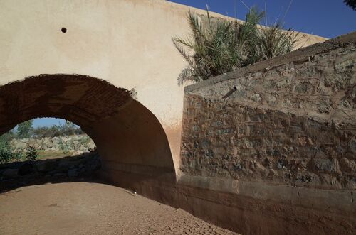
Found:
[[[95,77],[64,74],[27,77],[0,87],[0,134],[45,116],[68,119],[88,133],[102,158],[102,175],[119,185],[125,187],[129,180],[122,175],[175,180],[166,133],[126,89]]]

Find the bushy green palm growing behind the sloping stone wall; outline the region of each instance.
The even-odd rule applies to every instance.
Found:
[[[255,62],[292,50],[295,34],[283,32],[281,24],[258,27],[264,13],[256,8],[239,23],[222,18],[206,18],[188,12],[191,33],[187,38],[173,37],[174,46],[188,62],[179,74],[178,84],[200,82]],[[289,33],[290,32],[290,33]]]

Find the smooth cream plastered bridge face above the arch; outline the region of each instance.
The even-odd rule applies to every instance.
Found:
[[[163,0],[0,0],[0,84],[61,73],[133,89],[162,124],[178,170],[186,63],[172,36],[189,33],[189,10],[205,13]],[[302,36],[303,46],[325,40]]]

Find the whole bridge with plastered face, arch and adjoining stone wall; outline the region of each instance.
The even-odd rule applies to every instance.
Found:
[[[302,34],[319,44],[184,92],[171,38],[187,11],[1,0],[0,133],[73,121],[103,178],[242,234],[355,232],[355,33]]]

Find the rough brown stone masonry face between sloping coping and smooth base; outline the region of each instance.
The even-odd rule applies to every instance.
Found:
[[[354,43],[186,90],[187,175],[356,189]]]

